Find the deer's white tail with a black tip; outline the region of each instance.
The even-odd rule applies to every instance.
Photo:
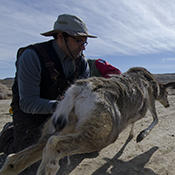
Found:
[[[82,91],[81,86],[72,85],[59,103],[52,116],[52,122],[57,131],[61,131],[68,123],[68,117],[75,105],[75,98]]]

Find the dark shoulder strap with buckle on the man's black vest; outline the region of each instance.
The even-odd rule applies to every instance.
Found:
[[[44,62],[45,62],[45,66],[46,66],[46,67],[48,68],[48,70],[49,70],[49,73],[50,73],[50,75],[51,75],[51,79],[56,80],[57,77],[58,77],[60,74],[56,71],[56,69],[55,69],[55,67],[54,67],[54,62],[51,61],[51,58],[50,58],[49,54],[47,53],[46,49],[44,48],[44,46],[41,45],[41,44],[35,44],[35,45],[33,45],[33,46],[34,46],[34,47],[39,51],[39,53],[41,54],[41,56],[42,56],[42,58],[43,58],[43,60],[44,60]]]

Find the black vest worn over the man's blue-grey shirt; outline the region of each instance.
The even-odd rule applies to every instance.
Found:
[[[17,53],[17,58],[23,53],[23,51],[27,48],[33,49],[41,63],[41,83],[40,83],[40,97],[44,99],[55,100],[59,99],[67,90],[67,88],[84,72],[85,67],[85,59],[80,57],[78,58],[78,76],[77,72],[71,75],[68,79],[66,79],[62,64],[58,55],[52,46],[52,41],[47,41],[43,43],[38,43],[35,45],[29,45],[24,48],[20,48]],[[38,47],[39,46],[39,47]],[[42,49],[42,50],[41,50]],[[43,58],[42,52],[46,52],[47,60]],[[51,69],[51,70],[49,70]],[[18,93],[18,85],[17,78],[15,77],[15,81],[12,87],[13,92],[13,100],[12,100],[12,108],[18,106],[19,102],[19,93]]]

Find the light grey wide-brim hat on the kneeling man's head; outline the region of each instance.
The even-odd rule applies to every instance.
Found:
[[[85,36],[90,38],[97,38],[97,36],[90,35],[84,21],[74,15],[63,14],[59,15],[55,21],[53,30],[41,33],[44,36],[53,36],[56,33],[66,32],[71,36]]]

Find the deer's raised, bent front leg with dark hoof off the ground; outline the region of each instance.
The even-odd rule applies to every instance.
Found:
[[[140,132],[140,134],[137,136],[137,142],[142,141],[149,134],[149,132],[154,128],[154,126],[158,123],[158,117],[157,117],[156,108],[155,108],[155,100],[153,97],[149,103],[149,110],[153,116],[153,122],[151,123],[150,126],[148,126],[148,128]]]

